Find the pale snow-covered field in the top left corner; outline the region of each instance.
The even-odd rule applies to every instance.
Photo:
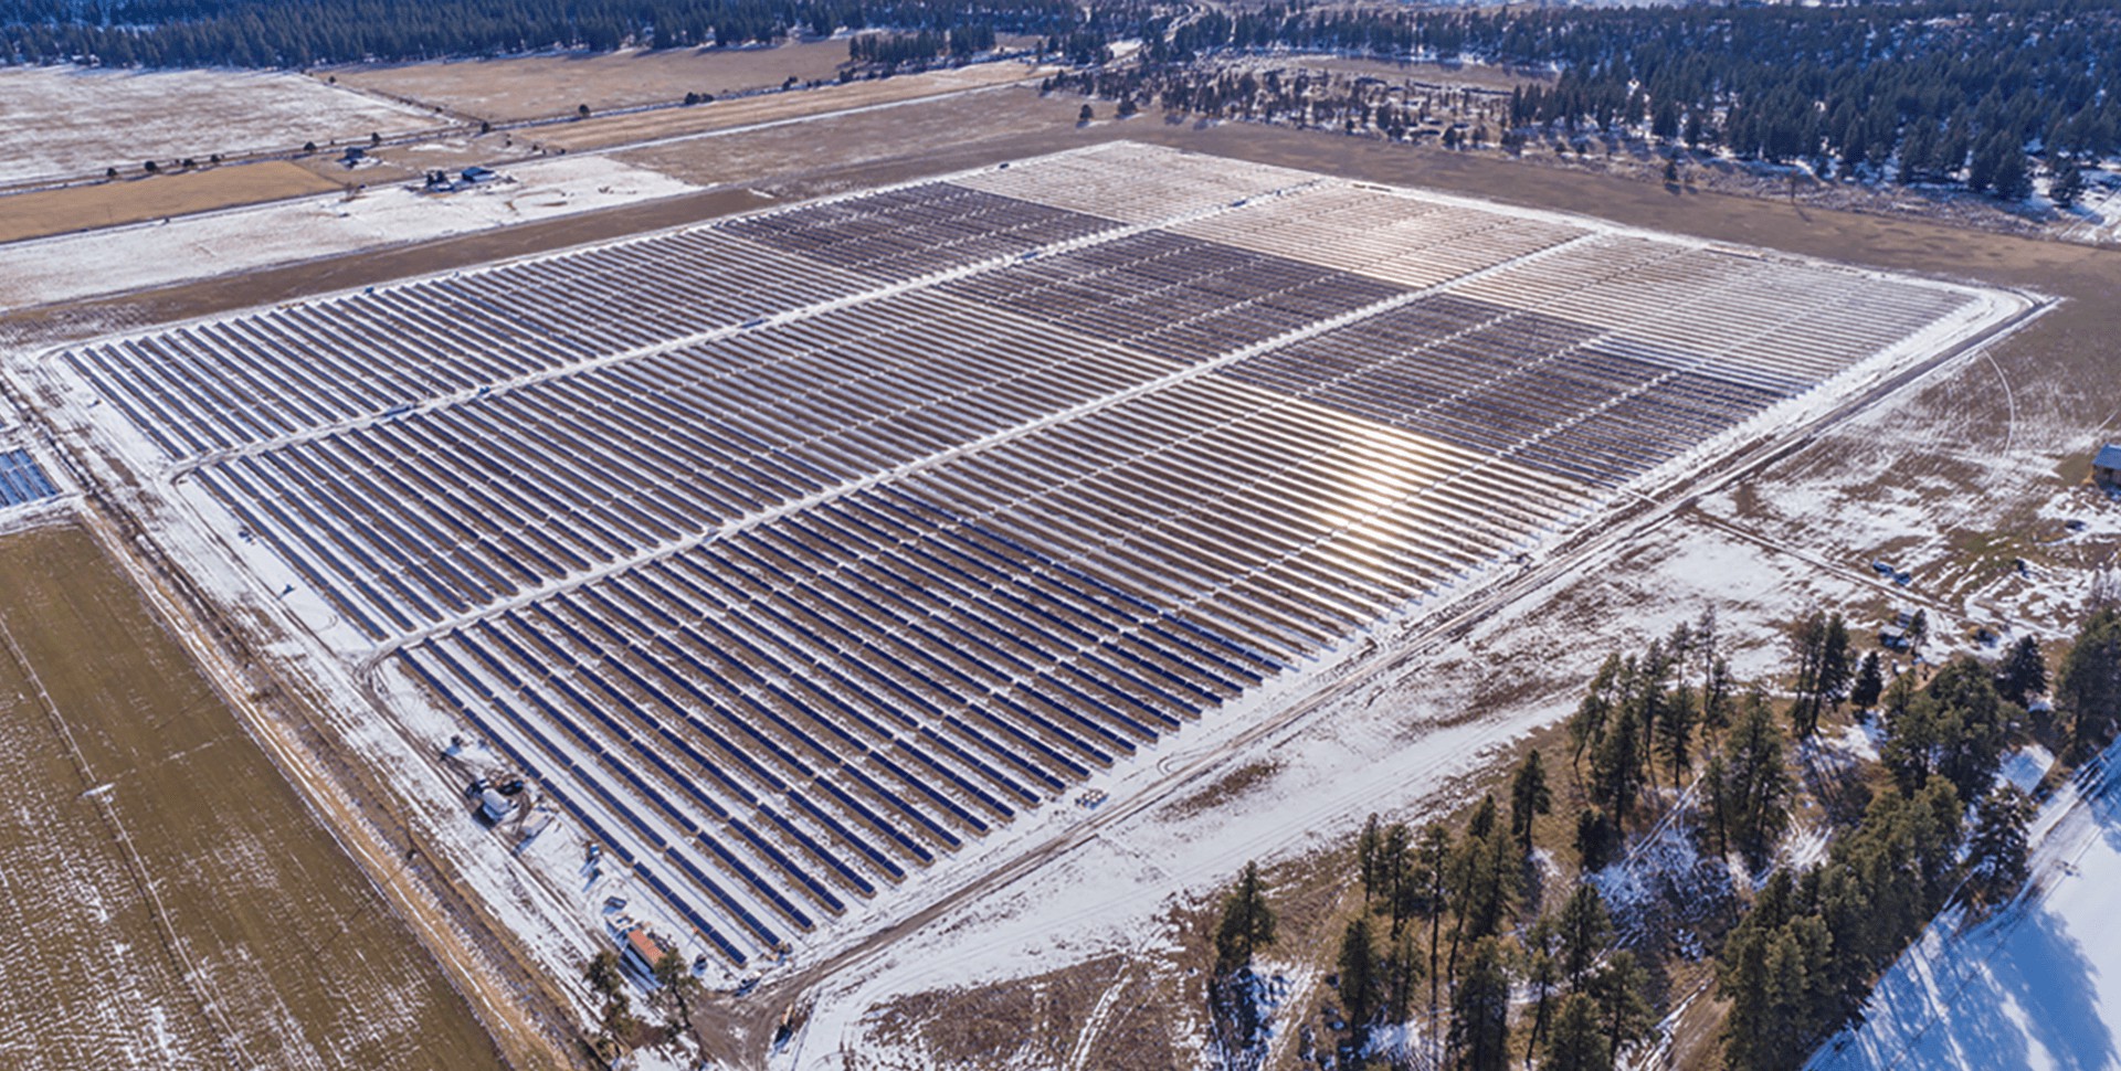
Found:
[[[123,121],[119,121],[123,117]],[[297,151],[437,127],[420,108],[301,74],[0,70],[0,185],[85,178],[148,159]],[[0,218],[15,212],[0,201]]]

